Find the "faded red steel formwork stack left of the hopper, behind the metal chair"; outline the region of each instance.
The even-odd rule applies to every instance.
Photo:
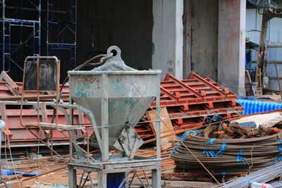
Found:
[[[40,122],[51,123],[54,114],[54,108],[50,104],[42,102],[39,103],[39,120]],[[15,101],[2,101],[0,102],[1,119],[6,121],[6,129],[4,134],[8,136],[11,146],[37,146],[38,139],[35,135],[39,135],[40,139],[50,141],[51,130],[39,130],[38,128],[29,128],[26,130],[20,124],[20,102]],[[68,113],[68,111],[67,111]],[[37,103],[25,102],[22,110],[22,123],[37,122]],[[61,111],[58,114],[58,123],[67,124],[66,116]],[[79,125],[90,126],[90,121],[78,110],[73,111],[73,123]],[[91,125],[92,126],[92,125]],[[92,134],[92,130],[88,130],[88,134]],[[85,130],[76,130],[75,134],[80,141],[87,138]],[[54,145],[68,144],[68,139],[61,134],[59,130],[53,132]],[[3,145],[5,146],[5,144]]]

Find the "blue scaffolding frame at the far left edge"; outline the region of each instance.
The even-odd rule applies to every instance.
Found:
[[[16,53],[22,46],[27,42],[27,40],[33,39],[32,52],[33,56],[40,56],[41,49],[41,0],[37,0],[37,3],[33,3],[30,0],[27,0],[35,6],[35,10],[37,10],[37,19],[36,20],[25,20],[21,18],[6,18],[6,2],[5,0],[0,1],[2,4],[2,42],[1,42],[1,70],[9,72],[11,69],[11,62],[15,63],[18,68],[22,69],[21,65],[19,65],[16,61],[11,58],[11,55]],[[20,41],[16,43],[11,43],[11,30],[13,27],[31,27],[32,34],[30,37],[23,42],[22,34],[20,33]],[[13,51],[11,51],[13,49]],[[20,51],[21,53],[21,51]],[[22,59],[21,59],[22,60]]]

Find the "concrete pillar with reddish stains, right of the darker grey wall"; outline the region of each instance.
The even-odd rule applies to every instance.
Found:
[[[245,95],[246,0],[219,0],[218,80]]]

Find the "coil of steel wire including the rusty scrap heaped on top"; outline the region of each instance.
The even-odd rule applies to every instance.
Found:
[[[282,132],[273,127],[221,123],[185,132],[182,142],[215,175],[240,175],[281,161],[281,137]],[[171,153],[176,171],[205,174],[185,146],[178,144]]]

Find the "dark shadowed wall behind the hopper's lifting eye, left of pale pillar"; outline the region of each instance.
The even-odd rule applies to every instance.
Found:
[[[152,0],[78,1],[78,48],[93,46],[78,51],[78,64],[116,45],[127,65],[152,68],[152,25]]]

